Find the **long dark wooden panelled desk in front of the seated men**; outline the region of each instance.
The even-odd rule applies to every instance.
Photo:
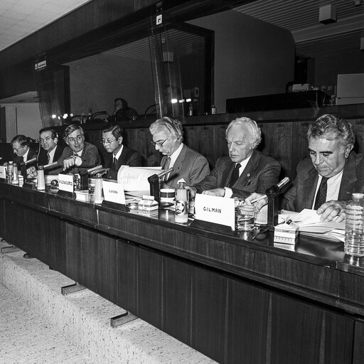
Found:
[[[363,363],[364,261],[341,243],[289,251],[3,182],[0,236],[220,363]]]

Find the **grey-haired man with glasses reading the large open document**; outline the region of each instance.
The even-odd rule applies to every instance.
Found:
[[[210,173],[208,160],[197,151],[183,144],[182,124],[170,117],[162,117],[149,127],[153,137],[151,144],[163,154],[161,166],[173,167],[173,171],[164,179],[164,187],[177,188],[183,178],[187,186],[196,184]]]

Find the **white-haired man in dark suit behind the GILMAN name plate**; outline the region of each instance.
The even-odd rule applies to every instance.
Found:
[[[255,149],[262,137],[254,120],[247,117],[232,120],[225,136],[229,156],[219,158],[213,171],[191,186],[191,198],[196,193],[246,198],[254,191],[265,192],[277,183],[281,166]]]

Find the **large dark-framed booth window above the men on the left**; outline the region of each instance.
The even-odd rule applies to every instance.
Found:
[[[126,126],[208,112],[213,31],[168,21],[147,28],[144,37],[119,30],[95,44],[90,41],[59,54],[50,51],[36,60],[43,125],[111,121]],[[122,119],[114,117],[116,99],[131,110]]]

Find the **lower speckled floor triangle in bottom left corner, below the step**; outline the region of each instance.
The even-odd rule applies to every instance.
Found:
[[[0,284],[1,364],[86,364],[87,354]]]

